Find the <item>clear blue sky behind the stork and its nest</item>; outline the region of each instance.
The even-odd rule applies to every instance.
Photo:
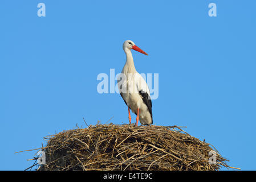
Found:
[[[46,16],[38,17],[38,3]],[[217,17],[208,15],[216,3]],[[187,126],[230,166],[255,170],[256,1],[0,2],[0,170],[32,165],[43,137],[97,121],[128,123],[119,94],[97,93],[99,73],[125,63],[159,74],[155,125]],[[132,122],[136,115],[132,114]]]

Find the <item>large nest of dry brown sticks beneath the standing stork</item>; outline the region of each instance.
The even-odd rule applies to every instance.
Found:
[[[218,170],[227,159],[177,126],[95,125],[48,136],[39,170]],[[210,153],[209,153],[210,152]],[[216,156],[216,160],[209,158]],[[214,158],[213,158],[214,159]],[[214,163],[216,162],[216,163]]]

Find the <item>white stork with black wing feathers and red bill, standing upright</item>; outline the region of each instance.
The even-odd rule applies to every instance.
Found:
[[[136,126],[138,126],[139,120],[141,125],[151,125],[153,119],[149,88],[144,78],[135,69],[131,49],[145,55],[148,54],[135,46],[135,43],[131,40],[124,42],[123,49],[126,54],[126,63],[119,78],[117,78],[117,85],[121,97],[123,97],[125,104],[128,106],[129,123],[131,124],[131,109],[137,115]]]

